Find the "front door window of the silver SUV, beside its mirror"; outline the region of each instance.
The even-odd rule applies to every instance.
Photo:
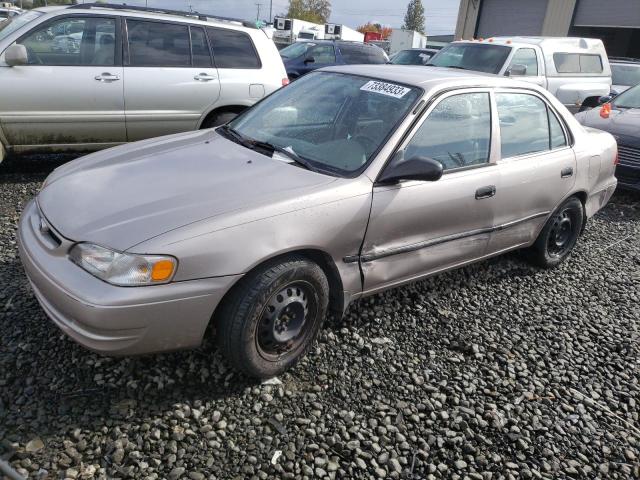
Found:
[[[29,65],[114,65],[116,23],[112,18],[68,17],[22,37]]]

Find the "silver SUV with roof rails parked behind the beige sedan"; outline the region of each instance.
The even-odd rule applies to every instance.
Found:
[[[248,25],[248,24],[247,24]],[[0,160],[98,150],[223,124],[287,83],[278,51],[238,21],[79,4],[0,26]]]

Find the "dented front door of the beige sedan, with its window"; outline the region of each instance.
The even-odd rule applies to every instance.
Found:
[[[487,91],[451,93],[427,113],[393,161],[440,161],[435,182],[375,186],[362,249],[372,292],[482,257],[493,226],[499,172]]]

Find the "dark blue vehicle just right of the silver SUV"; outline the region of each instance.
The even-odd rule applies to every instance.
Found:
[[[290,80],[321,67],[387,63],[389,57],[379,47],[343,40],[314,40],[292,43],[280,50]]]

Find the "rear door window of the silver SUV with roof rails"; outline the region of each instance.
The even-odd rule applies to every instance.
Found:
[[[133,67],[191,65],[187,25],[128,19],[127,37],[129,65]]]

